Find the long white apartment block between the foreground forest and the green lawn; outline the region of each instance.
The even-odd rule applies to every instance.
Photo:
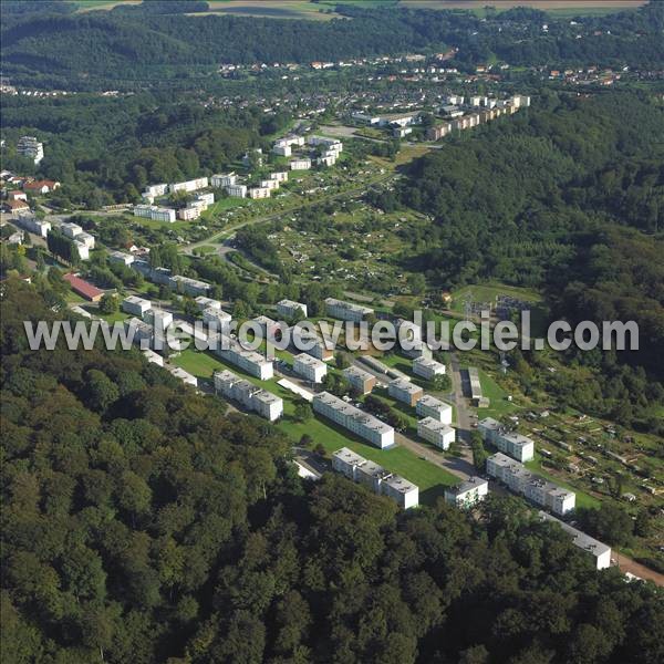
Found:
[[[403,509],[419,505],[419,488],[416,485],[385,470],[374,461],[369,461],[347,447],[342,447],[332,455],[332,468],[349,479],[363,484],[375,494],[396,500]]]

